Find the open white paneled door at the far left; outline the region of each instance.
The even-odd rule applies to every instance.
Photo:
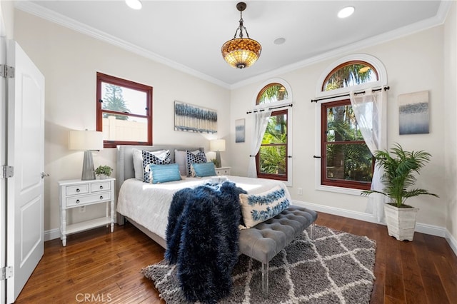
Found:
[[[8,41],[6,158],[14,167],[6,179],[6,302],[13,303],[44,253],[44,76],[16,41]]]

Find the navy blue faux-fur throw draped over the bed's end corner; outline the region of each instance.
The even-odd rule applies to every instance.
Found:
[[[238,260],[241,221],[235,183],[208,183],[176,192],[166,227],[165,258],[177,264],[187,300],[216,303],[229,295],[231,271]]]

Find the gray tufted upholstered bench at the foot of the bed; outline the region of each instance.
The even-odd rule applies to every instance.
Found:
[[[262,263],[263,295],[268,295],[268,263],[270,260],[303,233],[308,226],[311,226],[316,218],[316,211],[289,206],[274,218],[252,228],[240,230],[238,245],[240,253]]]

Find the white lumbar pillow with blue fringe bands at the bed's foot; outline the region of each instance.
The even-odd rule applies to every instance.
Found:
[[[290,206],[286,191],[280,186],[258,194],[240,194],[244,226],[251,228],[277,216]]]

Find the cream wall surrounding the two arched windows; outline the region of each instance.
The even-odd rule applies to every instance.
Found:
[[[351,54],[353,53],[370,54],[381,60],[386,66],[388,85],[391,88],[388,91],[388,146],[398,142],[408,150],[430,152],[431,162],[419,176],[417,186],[441,196],[440,199],[430,196],[410,198],[408,203],[421,209],[418,213],[418,223],[443,227],[446,221],[443,26],[351,52]],[[313,155],[317,151],[315,138],[318,134],[315,119],[316,103],[311,103],[311,99],[316,97],[315,90],[319,76],[333,61],[346,55],[348,54],[341,54],[341,56],[327,61],[276,75],[287,81],[293,91],[293,150],[291,152],[293,187],[289,188],[292,198],[335,211],[343,209],[342,215],[346,211],[363,213],[367,198],[315,190],[316,160]],[[260,88],[261,83],[259,82],[236,88],[231,92],[231,146],[229,149],[231,159],[237,160],[236,163],[231,163],[232,172],[235,175],[245,176],[247,174],[250,140],[249,136],[246,136],[246,143],[234,143],[234,121],[238,118],[246,118],[246,134],[251,133],[251,116],[246,115],[246,111],[251,109]],[[424,90],[430,92],[430,133],[398,135],[398,94]],[[303,188],[303,196],[297,194],[298,188]]]

